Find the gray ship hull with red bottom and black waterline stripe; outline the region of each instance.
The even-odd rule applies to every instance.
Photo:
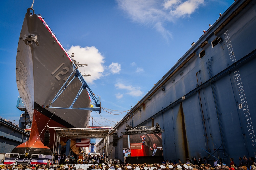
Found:
[[[41,138],[38,140],[42,142],[46,125],[50,127],[88,127],[89,110],[48,108],[73,70],[72,59],[48,25],[41,16],[37,16],[33,10],[28,9],[18,43],[16,79],[19,94],[29,116],[33,119],[31,139],[35,138],[34,140],[36,140],[40,135]],[[81,81],[76,77],[52,106],[69,108],[81,85]],[[83,90],[73,108],[90,107],[88,92]],[[37,128],[35,129],[35,127]],[[51,133],[53,134],[53,131]],[[53,140],[50,141],[50,148],[52,145]]]

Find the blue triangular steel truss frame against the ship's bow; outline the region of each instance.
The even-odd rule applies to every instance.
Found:
[[[68,79],[65,81],[65,83],[63,84],[63,86],[60,88],[59,92],[56,94],[56,96],[54,97],[54,99],[52,99],[50,105],[44,106],[44,108],[52,108],[52,109],[79,109],[79,110],[92,110],[92,111],[98,111],[99,114],[101,113],[101,102],[100,102],[100,97],[96,98],[94,93],[92,92],[91,88],[89,87],[89,85],[87,84],[87,82],[84,80],[82,74],[79,72],[77,66],[72,62],[73,65],[73,71],[72,73],[69,75]],[[72,75],[74,74],[74,77],[71,79]],[[68,107],[68,108],[63,108],[63,107],[53,107],[52,104],[56,101],[56,99],[62,94],[62,92],[70,85],[70,83],[75,79],[78,78],[80,80],[80,82],[82,83],[76,97],[74,98],[72,104]],[[71,80],[70,80],[71,79]],[[95,107],[85,107],[85,108],[73,108],[74,103],[76,102],[76,100],[78,99],[78,97],[80,96],[80,94],[82,93],[82,91],[86,89],[88,94],[90,95],[90,97],[93,99],[93,101],[95,102]]]

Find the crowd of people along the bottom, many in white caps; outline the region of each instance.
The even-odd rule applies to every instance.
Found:
[[[256,170],[256,162],[254,157],[246,158],[246,156],[239,157],[239,164],[234,163],[234,159],[230,158],[229,166],[221,159],[214,159],[214,164],[211,165],[207,163],[206,157],[193,158],[191,161],[187,158],[186,163],[182,163],[180,159],[178,162],[176,160],[173,163],[169,160],[164,160],[162,163],[153,164],[89,164],[89,167],[84,170]],[[1,170],[76,170],[75,164],[71,165],[59,165],[51,164],[50,160],[47,161],[47,165],[20,165],[20,164],[10,164],[4,165],[0,164]]]

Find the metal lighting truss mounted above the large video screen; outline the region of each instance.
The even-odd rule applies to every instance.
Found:
[[[149,133],[163,133],[164,130],[159,126],[138,126],[138,127],[130,127],[126,125],[126,131],[121,132],[123,135],[131,135],[131,134],[149,134]]]

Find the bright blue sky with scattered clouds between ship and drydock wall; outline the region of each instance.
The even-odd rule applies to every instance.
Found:
[[[35,0],[56,37],[101,96],[96,126],[113,126],[186,53],[233,0]],[[16,120],[19,96],[15,62],[19,34],[32,0],[0,2],[0,116]],[[214,26],[214,25],[213,25]],[[121,114],[123,113],[123,114]],[[116,114],[116,115],[113,115]],[[104,120],[103,120],[104,119]],[[91,121],[90,121],[91,124]]]

